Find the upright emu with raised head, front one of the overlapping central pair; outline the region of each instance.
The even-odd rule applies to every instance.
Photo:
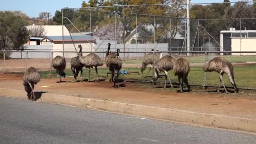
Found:
[[[115,55],[110,53],[107,56],[107,61],[106,61],[109,67],[109,71],[111,71],[111,77],[112,77],[111,80],[114,81],[114,88],[116,88],[116,82],[114,80],[115,71],[117,70],[117,83],[118,83],[117,88],[119,88],[119,71],[122,68],[122,61],[119,58],[119,52],[120,52],[120,49],[117,49],[117,53]]]

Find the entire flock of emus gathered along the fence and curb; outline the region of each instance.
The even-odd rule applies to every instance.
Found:
[[[81,73],[80,82],[83,82],[83,67],[85,67],[85,68],[88,68],[88,82],[89,82],[91,68],[95,67],[95,71],[97,74],[97,82],[99,82],[97,67],[103,65],[102,59],[95,53],[90,53],[86,56],[83,56],[82,46],[78,45],[78,48],[79,48],[78,56],[73,57],[70,61],[71,70],[74,74],[75,80],[77,81],[77,77],[80,72]],[[154,51],[154,49],[152,49],[152,51]],[[109,68],[109,71],[111,72],[111,78],[109,82],[114,83],[114,86],[113,86],[114,88],[119,88],[119,71],[122,68],[122,64],[123,64],[119,57],[119,53],[120,53],[120,49],[117,49],[116,53],[112,53],[110,50],[110,43],[108,43],[105,63],[106,63],[106,66]],[[153,69],[154,59],[155,59],[155,67]],[[166,88],[167,78],[169,80],[171,88],[173,88],[171,79],[168,74],[169,70],[173,70],[174,75],[178,76],[180,92],[183,92],[184,83],[186,84],[188,91],[190,91],[190,86],[187,78],[189,74],[190,66],[189,66],[189,61],[187,61],[186,59],[182,57],[176,59],[171,56],[162,57],[162,53],[150,52],[146,56],[144,56],[144,59],[142,61],[142,66],[141,66],[141,73],[143,73],[147,65],[149,65],[149,71],[153,69],[153,72],[154,72],[154,75],[151,79],[151,83],[155,83],[155,81],[160,77],[159,72],[164,72],[165,73],[164,88]],[[66,75],[64,72],[64,69],[66,68],[66,59],[63,56],[56,56],[52,60],[52,67],[56,69],[56,72],[57,72],[57,83],[62,82],[61,77],[65,77]],[[115,77],[115,71],[117,71],[116,77]],[[149,71],[147,72],[147,74],[149,73]],[[237,88],[234,80],[234,69],[232,64],[229,61],[221,57],[215,57],[211,61],[208,61],[204,64],[203,71],[204,72],[214,71],[220,74],[219,87],[217,88],[218,93],[219,93],[219,88],[221,83],[224,87],[225,92],[228,93],[227,88],[225,87],[222,79],[224,74],[228,75],[229,81],[235,88],[235,91],[238,93],[239,89]],[[58,75],[60,76],[60,80]],[[182,83],[181,83],[181,80],[182,80]],[[23,85],[24,85],[25,91],[27,92],[28,99],[36,100],[33,90],[35,85],[38,82],[40,82],[40,73],[38,72],[38,70],[35,69],[34,67],[30,67],[29,69],[27,69],[27,71],[24,73],[24,76],[23,76]]]

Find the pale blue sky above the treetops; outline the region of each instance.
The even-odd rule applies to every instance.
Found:
[[[88,1],[88,0],[84,0]],[[238,0],[230,0],[237,2]],[[251,1],[251,0],[250,0]],[[0,11],[23,11],[30,17],[37,17],[42,11],[54,15],[61,8],[79,8],[83,0],[0,0]],[[191,0],[191,3],[221,3],[223,0]]]

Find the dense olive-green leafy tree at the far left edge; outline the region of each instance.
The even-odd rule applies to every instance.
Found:
[[[29,40],[27,20],[11,11],[0,11],[0,49],[23,49]]]

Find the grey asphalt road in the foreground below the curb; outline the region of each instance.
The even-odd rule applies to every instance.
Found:
[[[0,96],[0,144],[255,144],[256,135]]]

